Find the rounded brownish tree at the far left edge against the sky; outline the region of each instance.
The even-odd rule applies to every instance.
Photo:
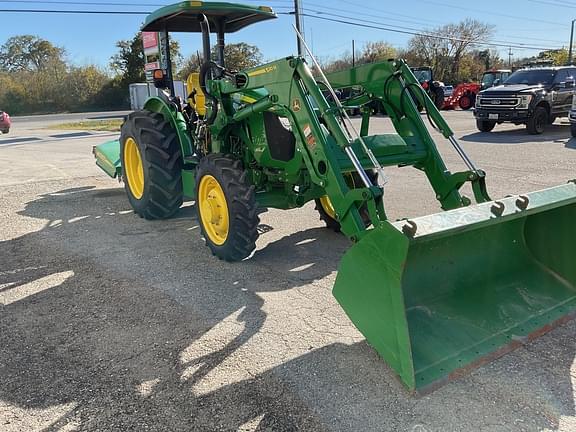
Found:
[[[38,36],[11,37],[0,47],[0,69],[8,72],[40,71],[64,64],[64,49]]]

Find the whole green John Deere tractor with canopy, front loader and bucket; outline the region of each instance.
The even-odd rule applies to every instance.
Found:
[[[412,391],[433,389],[573,317],[576,184],[492,201],[485,173],[402,60],[329,76],[317,65],[315,76],[302,57],[228,69],[225,34],[275,17],[266,7],[186,1],[147,18],[145,31],[202,34],[193,93],[205,102],[152,97],[126,118],[118,141],[94,149],[97,164],[124,180],[134,212],[164,219],[194,200],[211,252],[240,261],[255,249],[259,209],[316,201],[352,245],[334,296]],[[156,75],[158,86],[171,87],[170,77]],[[335,90],[351,87],[362,91],[342,103]],[[365,108],[374,101],[396,133],[369,134]],[[347,115],[355,106],[359,130]],[[446,168],[418,106],[467,170]],[[426,175],[444,212],[389,221],[386,166]],[[460,192],[466,184],[476,205]]]

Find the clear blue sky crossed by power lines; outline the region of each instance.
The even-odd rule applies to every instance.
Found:
[[[234,0],[232,0],[234,1]],[[360,48],[370,41],[385,41],[406,47],[412,37],[400,32],[418,32],[457,23],[466,18],[496,27],[493,47],[508,59],[533,55],[541,49],[567,47],[571,21],[576,19],[576,0],[300,0],[306,15],[305,36],[314,54],[322,60],[351,51],[352,40]],[[115,43],[130,39],[145,19],[145,13],[176,0],[0,0],[0,9],[114,10],[143,12],[142,15],[76,15],[0,12],[0,44],[9,37],[33,34],[66,50],[74,65],[97,64],[106,68],[117,51]],[[69,4],[74,3],[74,4]],[[104,5],[103,3],[106,3]],[[239,3],[271,6],[278,13],[293,9],[293,0],[241,0]],[[318,14],[320,12],[321,14]],[[381,27],[352,26],[318,18],[349,21]],[[255,24],[227,37],[228,42],[257,45],[265,60],[292,55],[296,51],[294,18]],[[389,30],[383,30],[382,27]],[[201,47],[197,34],[175,34],[184,56]],[[509,45],[513,45],[511,50]]]

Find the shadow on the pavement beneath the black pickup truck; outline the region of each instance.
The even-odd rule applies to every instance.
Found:
[[[517,129],[498,130],[498,125],[492,132],[474,132],[463,135],[462,141],[477,144],[523,144],[526,142],[555,142],[564,143],[570,137],[570,125],[553,124],[546,128],[542,135],[529,135],[526,129],[518,126]]]

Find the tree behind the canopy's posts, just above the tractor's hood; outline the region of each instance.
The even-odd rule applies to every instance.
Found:
[[[218,57],[216,47],[212,47],[210,52],[212,60]],[[199,53],[192,54],[184,61],[184,65],[178,76],[185,80],[192,72],[199,72],[202,63],[202,55]],[[262,53],[255,45],[245,42],[228,44],[224,46],[224,64],[230,70],[243,70],[262,63]]]

